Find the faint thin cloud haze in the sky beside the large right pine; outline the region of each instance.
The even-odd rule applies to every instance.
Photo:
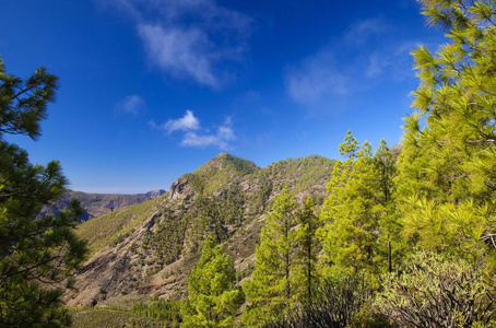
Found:
[[[408,51],[414,43],[398,45],[391,28],[382,19],[355,22],[333,43],[288,67],[286,92],[307,106],[342,107],[385,77],[401,80],[412,74]]]

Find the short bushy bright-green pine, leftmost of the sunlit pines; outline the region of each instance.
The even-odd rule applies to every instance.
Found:
[[[232,327],[244,302],[235,286],[236,271],[221,245],[205,239],[197,267],[188,277],[189,302],[181,307],[181,327]]]

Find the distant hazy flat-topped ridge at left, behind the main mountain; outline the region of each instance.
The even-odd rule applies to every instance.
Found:
[[[135,195],[87,194],[69,190],[52,207],[43,207],[39,215],[43,216],[47,213],[58,213],[60,210],[67,209],[70,201],[75,198],[81,201],[81,207],[84,209],[83,215],[80,219],[80,222],[84,222],[123,207],[157,198],[164,192],[165,190],[162,189]]]

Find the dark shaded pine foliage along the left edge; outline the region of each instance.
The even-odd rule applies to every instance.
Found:
[[[57,77],[38,69],[25,83],[7,74],[0,60],[0,138],[39,137],[39,120],[55,98]],[[58,216],[34,220],[40,206],[66,192],[57,161],[33,165],[27,153],[0,139],[0,326],[69,325],[59,307],[62,281],[84,259],[85,245],[73,233],[82,209],[72,201]]]

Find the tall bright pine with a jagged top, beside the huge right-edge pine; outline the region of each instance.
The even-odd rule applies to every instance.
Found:
[[[329,198],[322,209],[323,249],[332,274],[356,274],[371,268],[378,220],[373,213],[374,171],[370,145],[357,152],[356,140],[349,134],[340,144],[345,162],[334,166],[328,184]]]

